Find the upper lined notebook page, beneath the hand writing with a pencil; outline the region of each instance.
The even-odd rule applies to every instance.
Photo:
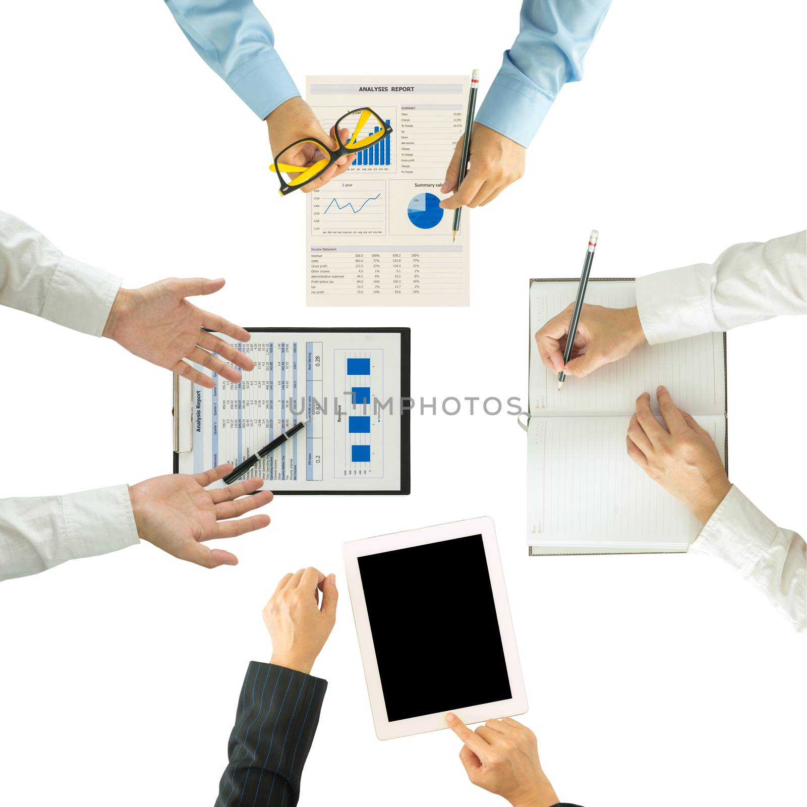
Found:
[[[649,392],[654,412],[659,411],[655,390],[663,384],[679,408],[692,414],[725,413],[725,353],[722,333],[643,345],[619,362],[600,367],[586,378],[567,376],[558,391],[558,377],[541,363],[535,333],[548,320],[575,301],[578,282],[533,282],[529,286],[529,320],[532,342],[529,362],[529,411],[536,415],[625,415],[636,399]],[[633,281],[588,283],[586,303],[610,308],[636,305]]]

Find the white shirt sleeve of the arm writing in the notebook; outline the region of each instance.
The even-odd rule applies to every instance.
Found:
[[[728,331],[780,314],[805,314],[805,231],[764,244],[736,244],[712,264],[637,278],[636,304],[650,345]]]

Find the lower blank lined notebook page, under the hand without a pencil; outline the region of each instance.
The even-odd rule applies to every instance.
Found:
[[[725,462],[725,417],[696,416]],[[527,540],[596,552],[681,551],[701,525],[628,457],[630,418],[529,420]]]

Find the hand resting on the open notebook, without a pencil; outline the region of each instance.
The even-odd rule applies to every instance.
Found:
[[[725,466],[709,433],[675,406],[667,387],[656,395],[667,429],[651,411],[650,395],[642,392],[625,437],[628,455],[705,524],[730,491]]]

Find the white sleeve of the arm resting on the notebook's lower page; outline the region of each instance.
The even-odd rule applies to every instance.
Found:
[[[750,580],[792,621],[807,628],[807,546],[777,527],[734,485],[717,506],[690,551],[721,558]]]

